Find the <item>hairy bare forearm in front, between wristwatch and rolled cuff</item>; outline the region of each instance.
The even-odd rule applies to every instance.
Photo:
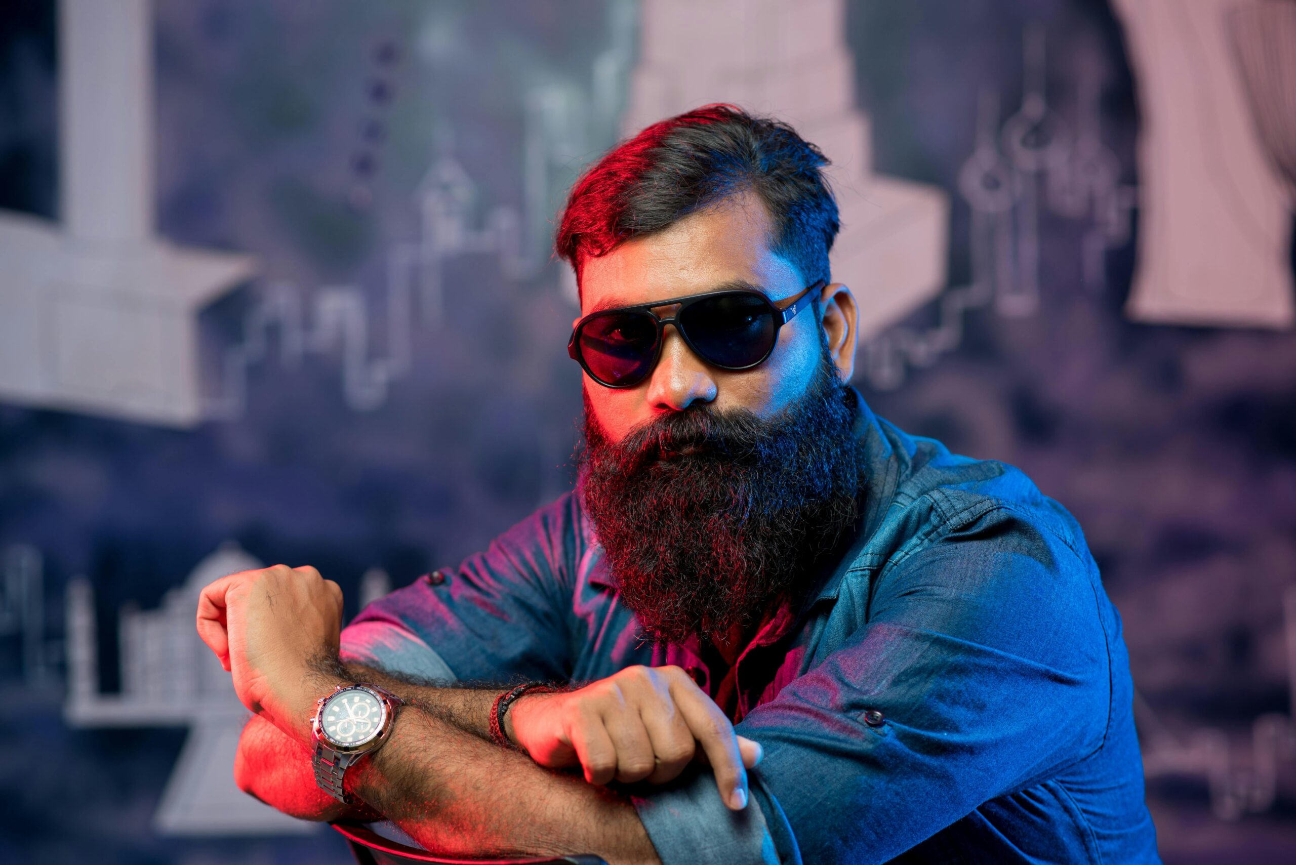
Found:
[[[354,791],[442,855],[597,853],[657,862],[629,798],[544,769],[416,707],[356,772]]]

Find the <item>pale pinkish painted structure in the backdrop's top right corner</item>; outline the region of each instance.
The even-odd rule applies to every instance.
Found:
[[[1296,53],[1296,4],[1116,0],[1113,6],[1143,111],[1138,272],[1126,315],[1159,324],[1292,326],[1296,189],[1283,188],[1273,162],[1279,154],[1269,152],[1278,148],[1261,140],[1262,118],[1247,88],[1273,88],[1278,101],[1261,110],[1286,113],[1286,146],[1296,148],[1296,63],[1290,54],[1286,69],[1273,62],[1282,56],[1265,58],[1273,75],[1287,78],[1260,82],[1248,80],[1243,61],[1253,48]],[[1274,36],[1269,45],[1245,44]]]

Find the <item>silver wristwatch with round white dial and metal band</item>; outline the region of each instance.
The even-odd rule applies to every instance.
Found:
[[[338,685],[315,702],[315,783],[338,802],[355,799],[342,787],[347,768],[377,751],[391,733],[397,707],[404,701],[377,685]]]

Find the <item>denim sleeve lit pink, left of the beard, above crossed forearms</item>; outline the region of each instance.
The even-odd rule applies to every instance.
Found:
[[[342,631],[342,659],[439,681],[562,680],[570,673],[569,496],[459,567],[369,603]]]

